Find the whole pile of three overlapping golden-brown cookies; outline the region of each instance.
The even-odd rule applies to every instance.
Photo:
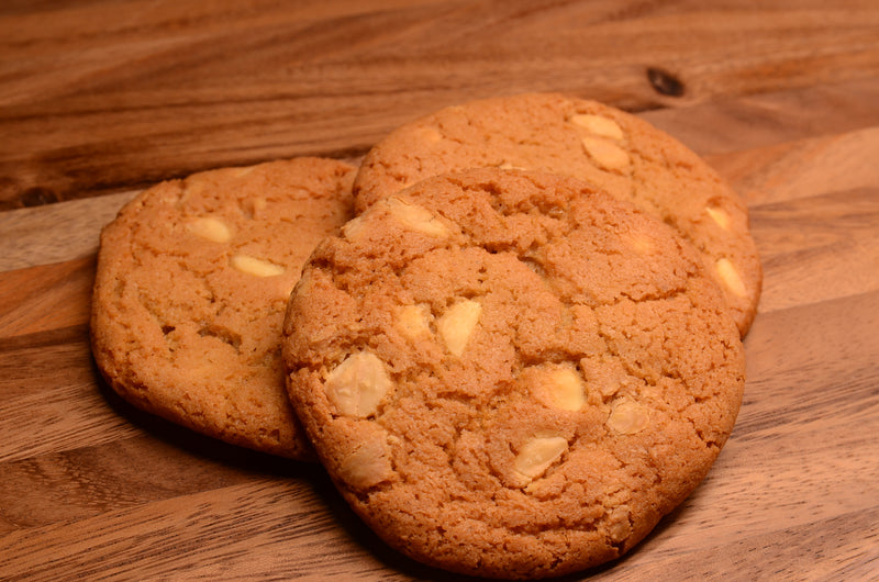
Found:
[[[760,279],[693,153],[524,94],[402,126],[359,168],[144,192],[102,233],[92,345],[135,405],[316,457],[408,556],[546,578],[623,555],[705,477]]]

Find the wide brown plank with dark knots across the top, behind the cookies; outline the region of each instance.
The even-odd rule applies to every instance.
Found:
[[[643,111],[879,76],[874,2],[402,4],[224,3],[205,19],[209,3],[179,2],[170,18],[144,9],[120,22],[87,5],[5,19],[0,208],[358,154],[478,97],[561,90]],[[32,32],[37,22],[54,35]]]

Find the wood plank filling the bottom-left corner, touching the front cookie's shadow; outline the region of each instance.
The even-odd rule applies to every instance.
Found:
[[[0,571],[32,580],[52,579],[58,572],[86,578],[310,574],[315,580],[352,580],[387,574],[388,580],[410,579],[385,569],[378,557],[353,539],[345,526],[356,535],[363,534],[363,526],[351,519],[349,510],[334,493],[324,493],[327,486],[325,479],[256,480],[70,524],[13,531],[0,537],[7,550],[0,556]],[[334,511],[321,510],[327,506]],[[132,523],[138,527],[132,529]],[[278,549],[281,540],[283,551]],[[49,562],[44,559],[46,551],[54,556]],[[403,561],[385,552],[391,563]]]

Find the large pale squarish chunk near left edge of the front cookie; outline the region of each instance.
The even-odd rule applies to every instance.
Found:
[[[390,388],[385,363],[369,351],[348,356],[327,374],[324,385],[330,403],[340,413],[358,418],[375,414]]]

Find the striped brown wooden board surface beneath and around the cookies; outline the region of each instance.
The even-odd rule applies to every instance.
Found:
[[[879,4],[846,0],[0,3],[0,579],[452,580],[387,549],[319,467],[108,391],[94,250],[163,178],[356,158],[523,90],[635,111],[705,156],[765,266],[708,480],[570,579],[878,580]]]

